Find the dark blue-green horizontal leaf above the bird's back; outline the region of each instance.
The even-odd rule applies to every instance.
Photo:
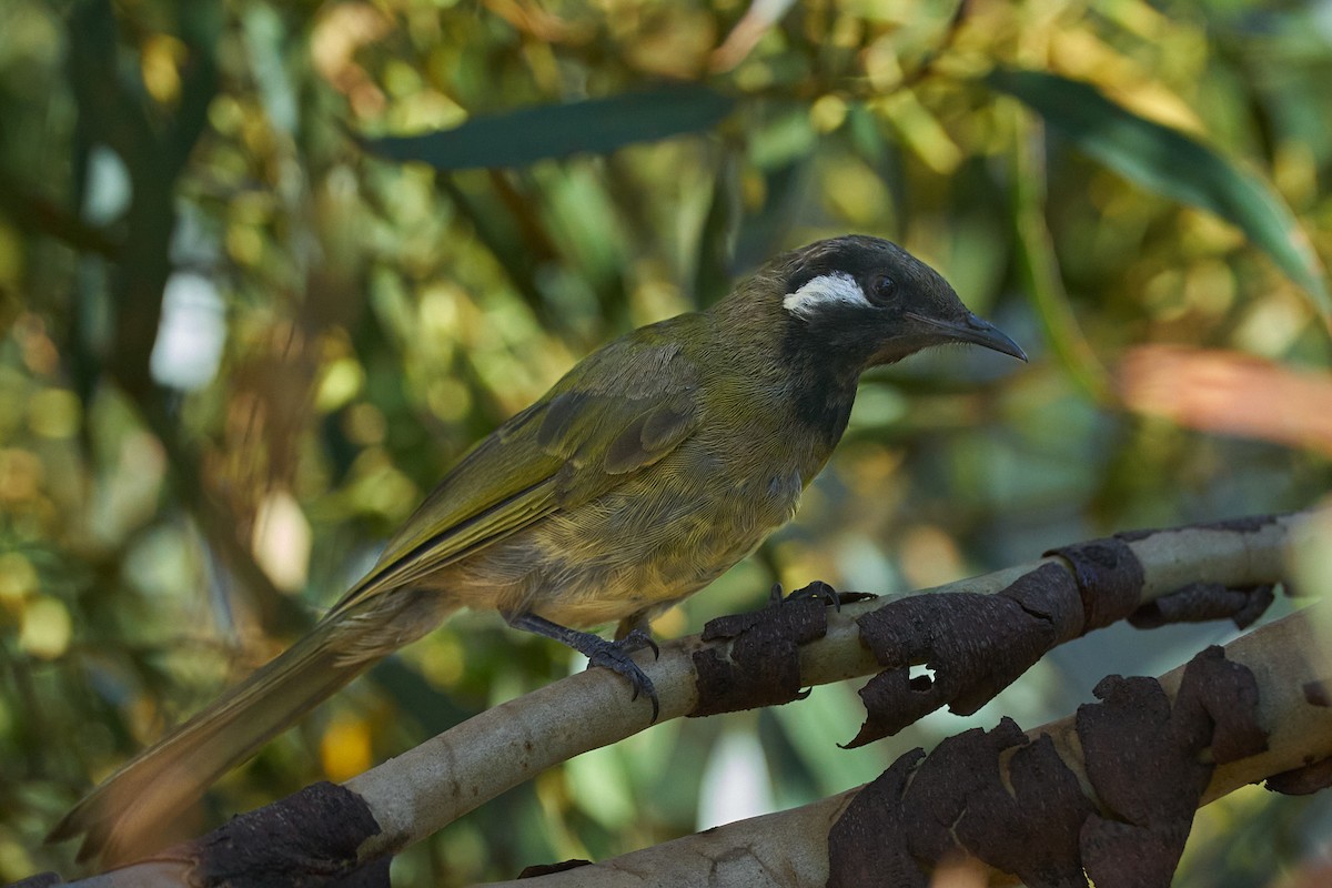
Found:
[[[436,169],[526,166],[578,152],[607,153],[631,142],[709,129],[735,100],[702,84],[663,84],[563,105],[477,114],[454,129],[422,136],[366,138],[392,160],[418,160]]]

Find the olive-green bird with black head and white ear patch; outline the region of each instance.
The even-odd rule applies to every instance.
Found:
[[[221,775],[462,607],[557,639],[657,699],[651,618],[797,511],[860,374],[922,349],[1022,347],[891,241],[822,240],[578,362],[477,442],[313,628],[131,759],[51,831],[124,863]],[[590,627],[617,623],[607,640]]]

